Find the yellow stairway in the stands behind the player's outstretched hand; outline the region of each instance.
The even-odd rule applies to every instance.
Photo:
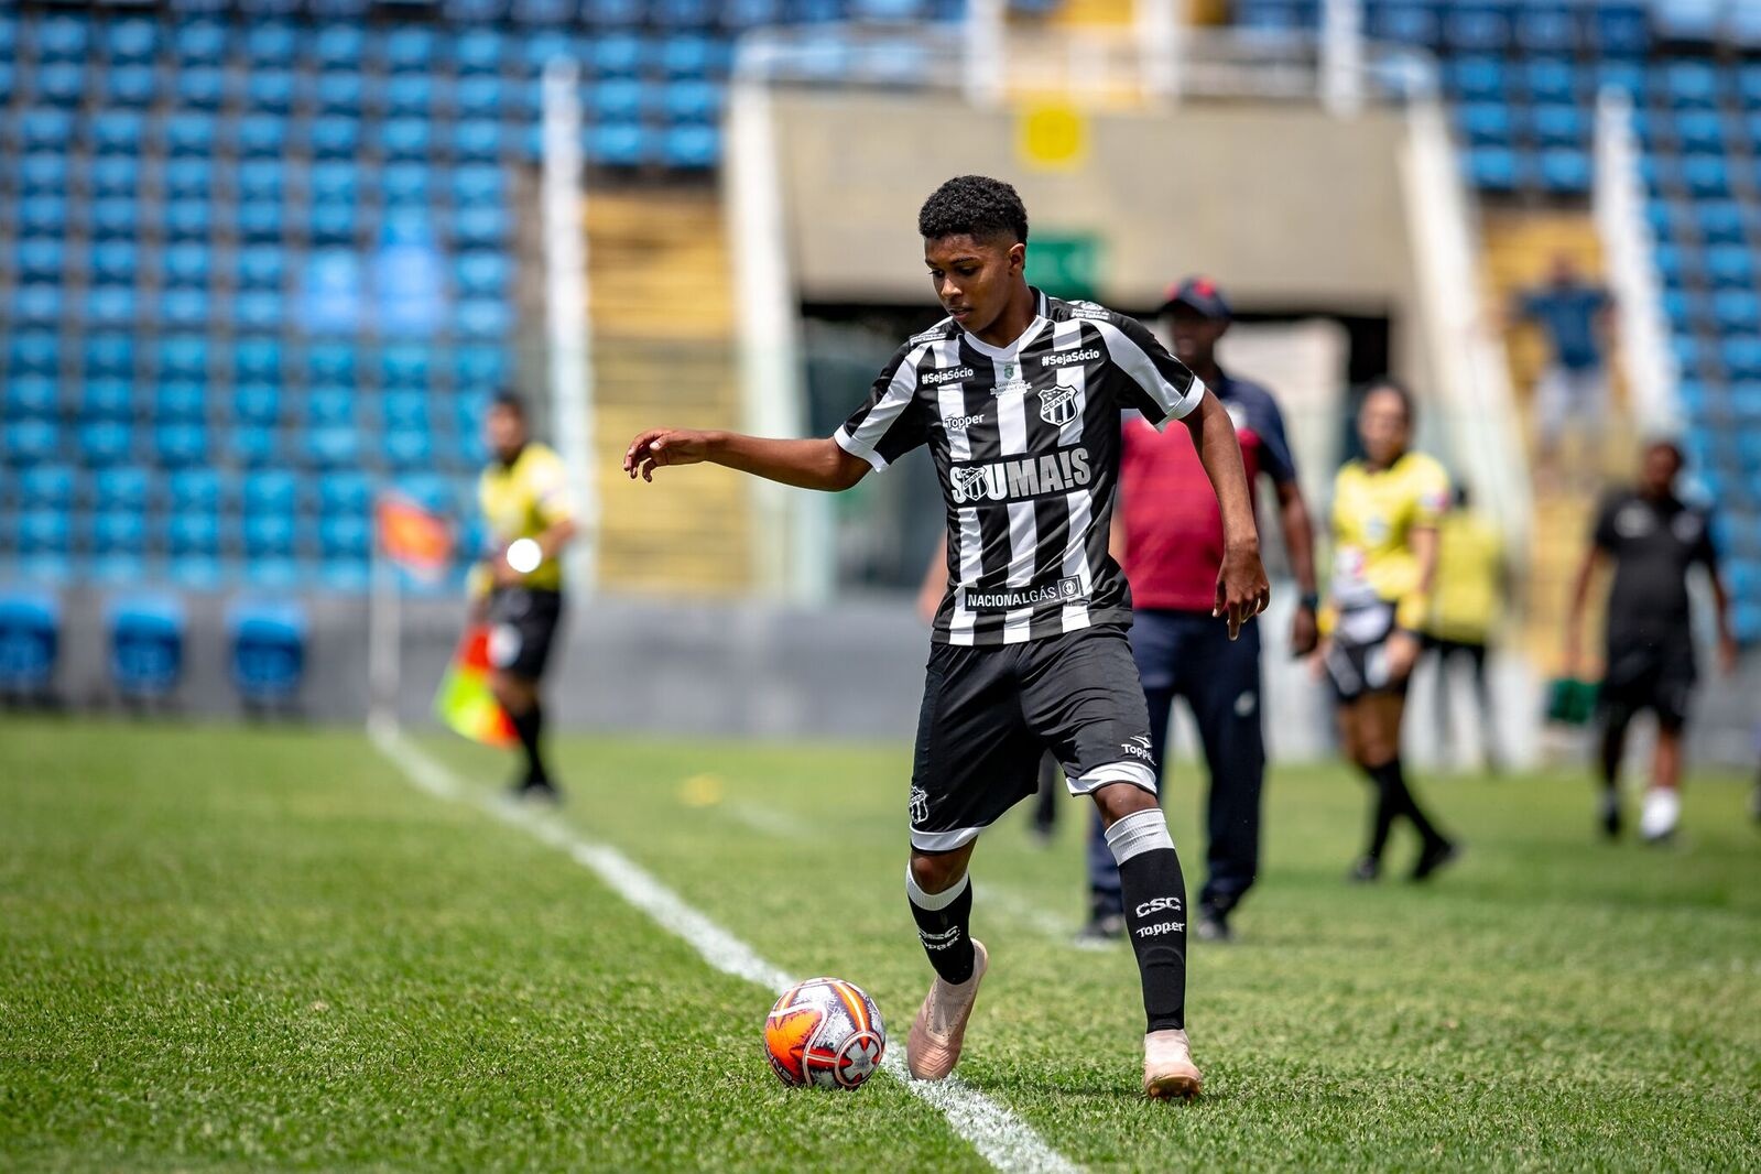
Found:
[[[731,595],[752,584],[745,479],[717,466],[630,482],[623,449],[643,428],[738,428],[733,273],[713,190],[590,195],[599,586]]]

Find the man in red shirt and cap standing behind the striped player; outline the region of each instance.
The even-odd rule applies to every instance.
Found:
[[[1296,484],[1296,463],[1284,438],[1284,417],[1259,384],[1217,364],[1217,340],[1229,329],[1229,303],[1208,278],[1189,278],[1168,292],[1162,322],[1175,356],[1222,401],[1242,442],[1252,484],[1264,473],[1278,496],[1278,521],[1301,598],[1291,648],[1315,648],[1315,563],[1308,507]],[[1134,621],[1131,651],[1150,704],[1150,748],[1168,766],[1168,716],[1175,697],[1192,708],[1205,766],[1206,877],[1199,891],[1197,935],[1229,940],[1229,914],[1259,871],[1259,792],[1266,774],[1261,725],[1259,621],[1229,641],[1212,618],[1222,517],[1205,493],[1205,466],[1183,429],[1157,431],[1129,419],[1120,463],[1120,510],[1113,516],[1113,553],[1131,581]],[[1106,940],[1125,931],[1118,864],[1099,820],[1088,843],[1090,921],[1081,938]]]

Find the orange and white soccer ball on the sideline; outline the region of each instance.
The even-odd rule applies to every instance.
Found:
[[[858,1088],[880,1067],[886,1024],[854,982],[808,979],[764,1016],[764,1054],[791,1088]]]

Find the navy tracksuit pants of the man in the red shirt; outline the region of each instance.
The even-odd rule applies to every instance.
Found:
[[[1150,702],[1150,743],[1168,792],[1168,718],[1175,697],[1192,718],[1210,769],[1206,877],[1199,905],[1227,912],[1259,869],[1259,789],[1266,776],[1261,727],[1259,621],[1229,628],[1208,611],[1143,607],[1132,618],[1131,653]],[[1101,813],[1088,840],[1088,885],[1097,912],[1120,912],[1118,864],[1106,845]]]

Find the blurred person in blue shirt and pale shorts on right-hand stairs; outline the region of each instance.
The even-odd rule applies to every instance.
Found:
[[[1548,366],[1536,384],[1541,466],[1550,475],[1560,472],[1560,442],[1567,428],[1585,445],[1578,458],[1583,466],[1594,470],[1601,459],[1608,405],[1603,350],[1610,305],[1608,290],[1585,282],[1566,253],[1553,257],[1546,283],[1525,290],[1516,301],[1516,317],[1537,324],[1551,347]]]

